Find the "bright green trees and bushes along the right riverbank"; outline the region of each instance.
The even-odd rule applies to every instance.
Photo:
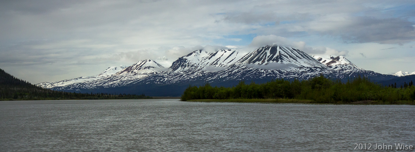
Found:
[[[245,84],[234,87],[189,86],[181,96],[182,101],[192,99],[261,99],[288,98],[314,100],[321,103],[349,103],[356,101],[413,101],[415,87],[412,82],[404,87],[382,86],[366,77],[356,77],[342,83],[320,75],[304,81],[276,79],[263,84]]]

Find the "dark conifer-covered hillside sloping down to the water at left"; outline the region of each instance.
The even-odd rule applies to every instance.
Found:
[[[142,99],[144,94],[76,93],[40,88],[15,78],[0,69],[0,101],[7,100],[71,100],[71,99]]]

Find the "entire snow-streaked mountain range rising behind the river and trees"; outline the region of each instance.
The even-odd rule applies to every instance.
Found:
[[[147,59],[132,66],[109,67],[95,76],[44,82],[37,86],[60,91],[181,96],[189,85],[233,86],[239,81],[304,80],[320,74],[342,81],[356,76],[366,76],[372,81],[397,77],[361,69],[344,56],[310,56],[291,47],[267,45],[245,54],[237,49],[215,52],[200,49],[178,58],[168,68]]]

